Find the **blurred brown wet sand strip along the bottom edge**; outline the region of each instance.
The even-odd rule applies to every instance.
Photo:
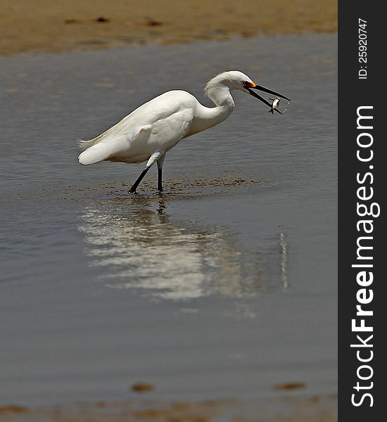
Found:
[[[173,402],[158,404],[151,400],[128,402],[96,402],[68,407],[0,407],[0,421],[7,422],[335,422],[336,397],[321,400],[289,398],[286,407],[275,416],[266,416],[265,409],[255,416],[246,416],[246,409],[237,400],[208,400],[204,402]],[[336,404],[336,403],[335,403]],[[272,413],[272,412],[270,412]]]

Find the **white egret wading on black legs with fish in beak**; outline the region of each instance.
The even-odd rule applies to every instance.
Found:
[[[78,159],[81,164],[94,164],[103,160],[121,162],[144,162],[145,169],[129,192],[136,192],[146,172],[157,162],[158,191],[163,190],[163,162],[165,154],[187,136],[203,132],[227,119],[234,110],[232,89],[239,89],[271,104],[252,89],[289,98],[255,84],[242,72],[231,70],[220,73],[205,85],[205,95],[215,107],[203,106],[186,91],[168,91],[143,104],[103,134],[89,141],[80,141],[84,149]],[[279,110],[275,108],[278,113]]]

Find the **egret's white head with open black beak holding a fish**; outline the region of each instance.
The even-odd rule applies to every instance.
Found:
[[[238,70],[230,70],[229,72],[223,72],[220,73],[220,75],[215,76],[210,80],[210,82],[208,82],[205,88],[206,94],[210,94],[210,91],[216,89],[220,85],[228,87],[230,91],[231,89],[239,89],[239,91],[243,91],[246,94],[250,94],[251,96],[258,98],[258,100],[262,101],[262,103],[265,103],[269,107],[271,107],[269,101],[253,90],[266,92],[267,94],[272,94],[276,97],[285,98],[286,100],[290,101],[290,98],[279,94],[276,91],[272,91],[271,89],[267,89],[261,85],[256,84],[253,82],[253,80],[250,79],[250,77],[245,75],[243,72],[239,72]],[[275,108],[275,110],[278,113],[281,113],[279,110],[277,110],[277,108]]]

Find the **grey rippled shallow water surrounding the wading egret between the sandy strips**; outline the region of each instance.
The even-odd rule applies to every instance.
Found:
[[[1,402],[336,392],[334,35],[19,55],[1,62]],[[142,165],[77,163],[169,89],[238,69],[292,98],[234,94],[219,127]],[[294,394],[294,392],[293,392]]]

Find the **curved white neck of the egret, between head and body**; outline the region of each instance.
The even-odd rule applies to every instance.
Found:
[[[196,110],[198,122],[200,122],[197,132],[209,129],[215,126],[215,124],[223,122],[234,110],[235,103],[228,87],[222,87],[216,91],[212,91],[209,97],[215,103],[216,107],[201,106]]]

